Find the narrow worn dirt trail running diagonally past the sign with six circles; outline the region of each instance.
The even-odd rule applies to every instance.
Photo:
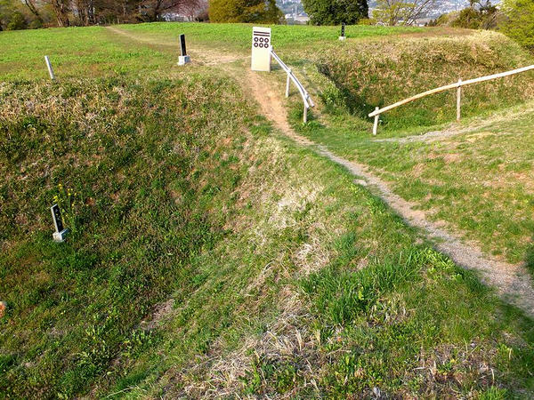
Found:
[[[163,44],[157,41],[152,42],[148,38],[140,38],[127,34],[117,28],[109,29],[142,44]],[[226,60],[229,57],[231,61],[244,59],[242,55],[218,52],[215,49],[209,49],[201,58],[206,57],[213,58],[213,60],[206,60],[203,64],[213,66],[221,63],[215,61]],[[224,64],[224,62],[222,63]],[[243,68],[247,68],[247,66],[243,66]],[[401,198],[401,196],[393,193],[392,189],[384,180],[381,180],[374,173],[368,171],[365,164],[355,163],[343,157],[336,156],[327,148],[296,133],[287,122],[287,110],[284,105],[282,93],[273,90],[271,84],[261,74],[250,71],[249,68],[247,68],[245,74],[243,74],[242,68],[239,71],[234,71],[233,68],[224,68],[224,72],[235,75],[236,80],[245,86],[245,92],[250,93],[259,104],[263,116],[271,120],[280,132],[303,146],[314,148],[320,155],[328,157],[331,161],[342,165],[349,172],[352,172],[355,177],[363,178],[367,182],[368,188],[388,204],[392,210],[397,212],[407,224],[421,229],[426,238],[434,243],[438,251],[448,255],[458,266],[477,272],[481,281],[484,284],[494,287],[503,300],[521,308],[527,315],[534,316],[534,284],[524,263],[511,264],[501,260],[495,260],[483,254],[476,245],[464,244],[457,236],[444,230],[433,221],[428,220],[425,212],[414,210],[413,204],[410,204]],[[411,139],[404,138],[404,140],[425,140],[423,138],[437,140],[460,132],[462,130],[431,132],[427,136],[421,135]]]

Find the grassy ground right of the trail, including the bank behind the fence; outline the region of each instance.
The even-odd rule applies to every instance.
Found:
[[[377,138],[370,135],[372,121],[365,116],[376,101],[389,104],[454,82],[455,76],[528,65],[530,54],[505,36],[481,32],[368,40],[354,44],[352,52],[329,52],[325,59],[319,71],[309,65],[305,70],[321,100],[320,118],[300,124],[295,105],[295,129],[340,156],[368,164],[395,193],[485,252],[531,266],[530,73],[466,88],[461,124],[450,124],[456,91],[385,113]],[[454,135],[428,142],[395,140],[435,131]],[[391,141],[380,141],[384,138]]]

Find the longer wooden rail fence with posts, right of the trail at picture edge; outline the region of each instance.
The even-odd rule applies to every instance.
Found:
[[[523,67],[523,68],[513,69],[511,71],[501,72],[499,74],[481,76],[481,77],[478,77],[478,78],[469,79],[467,81],[462,81],[460,79],[460,80],[458,80],[458,82],[456,82],[454,84],[446,84],[445,86],[437,87],[437,88],[432,89],[430,91],[426,91],[426,92],[422,92],[422,93],[416,94],[415,96],[409,97],[408,99],[397,101],[396,103],[393,103],[390,106],[387,106],[387,107],[384,107],[384,108],[376,107],[375,111],[373,111],[372,113],[369,114],[369,117],[373,117],[373,116],[375,117],[375,124],[373,124],[373,135],[376,135],[376,131],[378,129],[378,118],[380,117],[380,114],[383,114],[384,112],[389,111],[392,108],[397,108],[397,107],[402,106],[402,105],[404,105],[406,103],[409,103],[410,101],[421,99],[421,98],[423,98],[425,96],[428,96],[430,94],[443,92],[443,91],[447,91],[449,89],[455,89],[455,88],[457,89],[457,121],[459,121],[460,120],[460,115],[461,115],[462,86],[466,86],[468,84],[478,84],[480,82],[490,81],[492,79],[497,79],[497,78],[500,78],[500,77],[520,74],[522,72],[530,71],[531,69],[534,69],[534,65],[530,65],[528,67]]]

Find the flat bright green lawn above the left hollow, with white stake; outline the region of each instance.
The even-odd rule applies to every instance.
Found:
[[[0,81],[49,79],[44,56],[56,78],[146,76],[175,60],[150,47],[126,44],[106,28],[50,28],[0,33]]]

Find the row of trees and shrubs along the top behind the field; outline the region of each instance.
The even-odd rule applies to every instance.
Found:
[[[313,25],[413,25],[443,0],[377,0],[369,19],[368,0],[302,0]],[[0,30],[108,25],[168,20],[284,23],[276,0],[0,0]],[[534,0],[470,0],[429,25],[499,29],[534,51]]]

